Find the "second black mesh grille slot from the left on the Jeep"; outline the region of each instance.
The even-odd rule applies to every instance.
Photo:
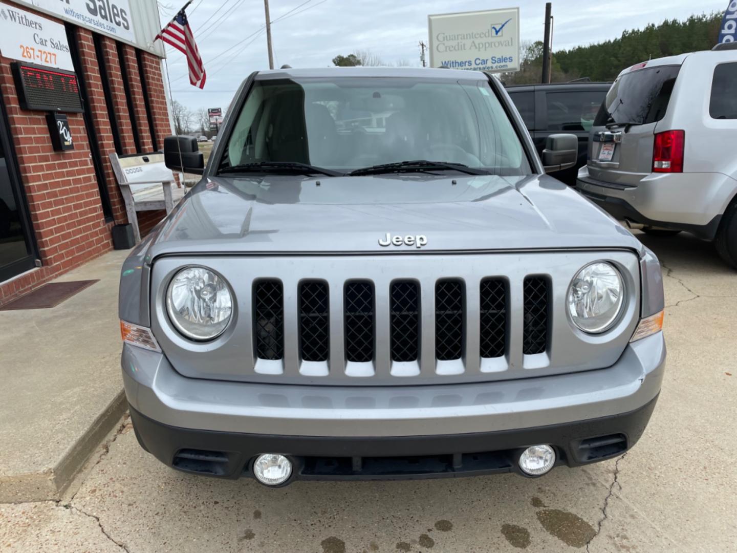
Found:
[[[304,361],[327,361],[327,297],[327,285],[324,282],[302,282],[299,287],[299,353]]]

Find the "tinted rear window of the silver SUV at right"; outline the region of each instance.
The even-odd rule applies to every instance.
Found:
[[[663,119],[680,67],[646,67],[618,77],[609,88],[594,125],[643,125]]]

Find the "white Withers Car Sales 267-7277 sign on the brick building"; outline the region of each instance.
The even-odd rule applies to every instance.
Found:
[[[2,2],[0,52],[13,60],[74,71],[62,24]]]

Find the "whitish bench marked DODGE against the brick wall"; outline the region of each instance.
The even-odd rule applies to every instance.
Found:
[[[140,153],[132,156],[111,153],[110,161],[137,244],[141,241],[137,212],[165,209],[168,214],[184,198],[186,189],[176,184],[174,173],[164,165],[163,153]]]

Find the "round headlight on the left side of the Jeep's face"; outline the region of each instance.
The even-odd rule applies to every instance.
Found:
[[[169,284],[167,312],[186,338],[212,340],[228,327],[233,296],[219,274],[204,267],[188,267],[175,274]]]

